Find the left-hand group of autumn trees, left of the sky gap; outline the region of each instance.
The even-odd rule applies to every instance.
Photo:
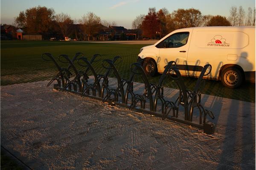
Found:
[[[79,27],[74,28],[75,21],[71,19],[69,14],[55,14],[52,8],[47,7],[33,7],[21,11],[15,18],[15,25],[22,27],[28,34],[42,34],[45,38],[53,35],[61,35],[62,38],[72,36],[77,39],[91,40],[99,33],[102,26],[115,26],[116,23],[109,23],[101,20],[96,14],[89,12],[82,16],[80,20],[76,21],[80,24]]]

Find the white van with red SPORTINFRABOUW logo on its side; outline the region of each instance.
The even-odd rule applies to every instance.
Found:
[[[244,79],[255,82],[255,27],[178,29],[141,48],[138,57],[148,61],[144,69],[151,76],[162,73],[169,61],[189,77],[198,77],[203,66],[210,64],[212,72],[205,79],[237,88]]]

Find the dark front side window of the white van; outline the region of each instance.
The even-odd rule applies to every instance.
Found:
[[[170,35],[156,45],[157,48],[177,48],[185,45],[189,38],[189,32],[179,32]]]

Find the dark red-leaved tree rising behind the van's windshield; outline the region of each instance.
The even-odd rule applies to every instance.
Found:
[[[148,14],[142,22],[142,31],[144,37],[151,39],[156,38],[157,34],[160,34],[160,20],[157,17],[155,8],[148,9]]]

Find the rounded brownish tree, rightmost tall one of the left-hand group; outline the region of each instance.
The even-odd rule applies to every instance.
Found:
[[[89,12],[87,15],[84,15],[80,20],[80,23],[83,24],[84,33],[87,34],[88,41],[91,37],[98,34],[101,28],[100,17],[93,12]]]

